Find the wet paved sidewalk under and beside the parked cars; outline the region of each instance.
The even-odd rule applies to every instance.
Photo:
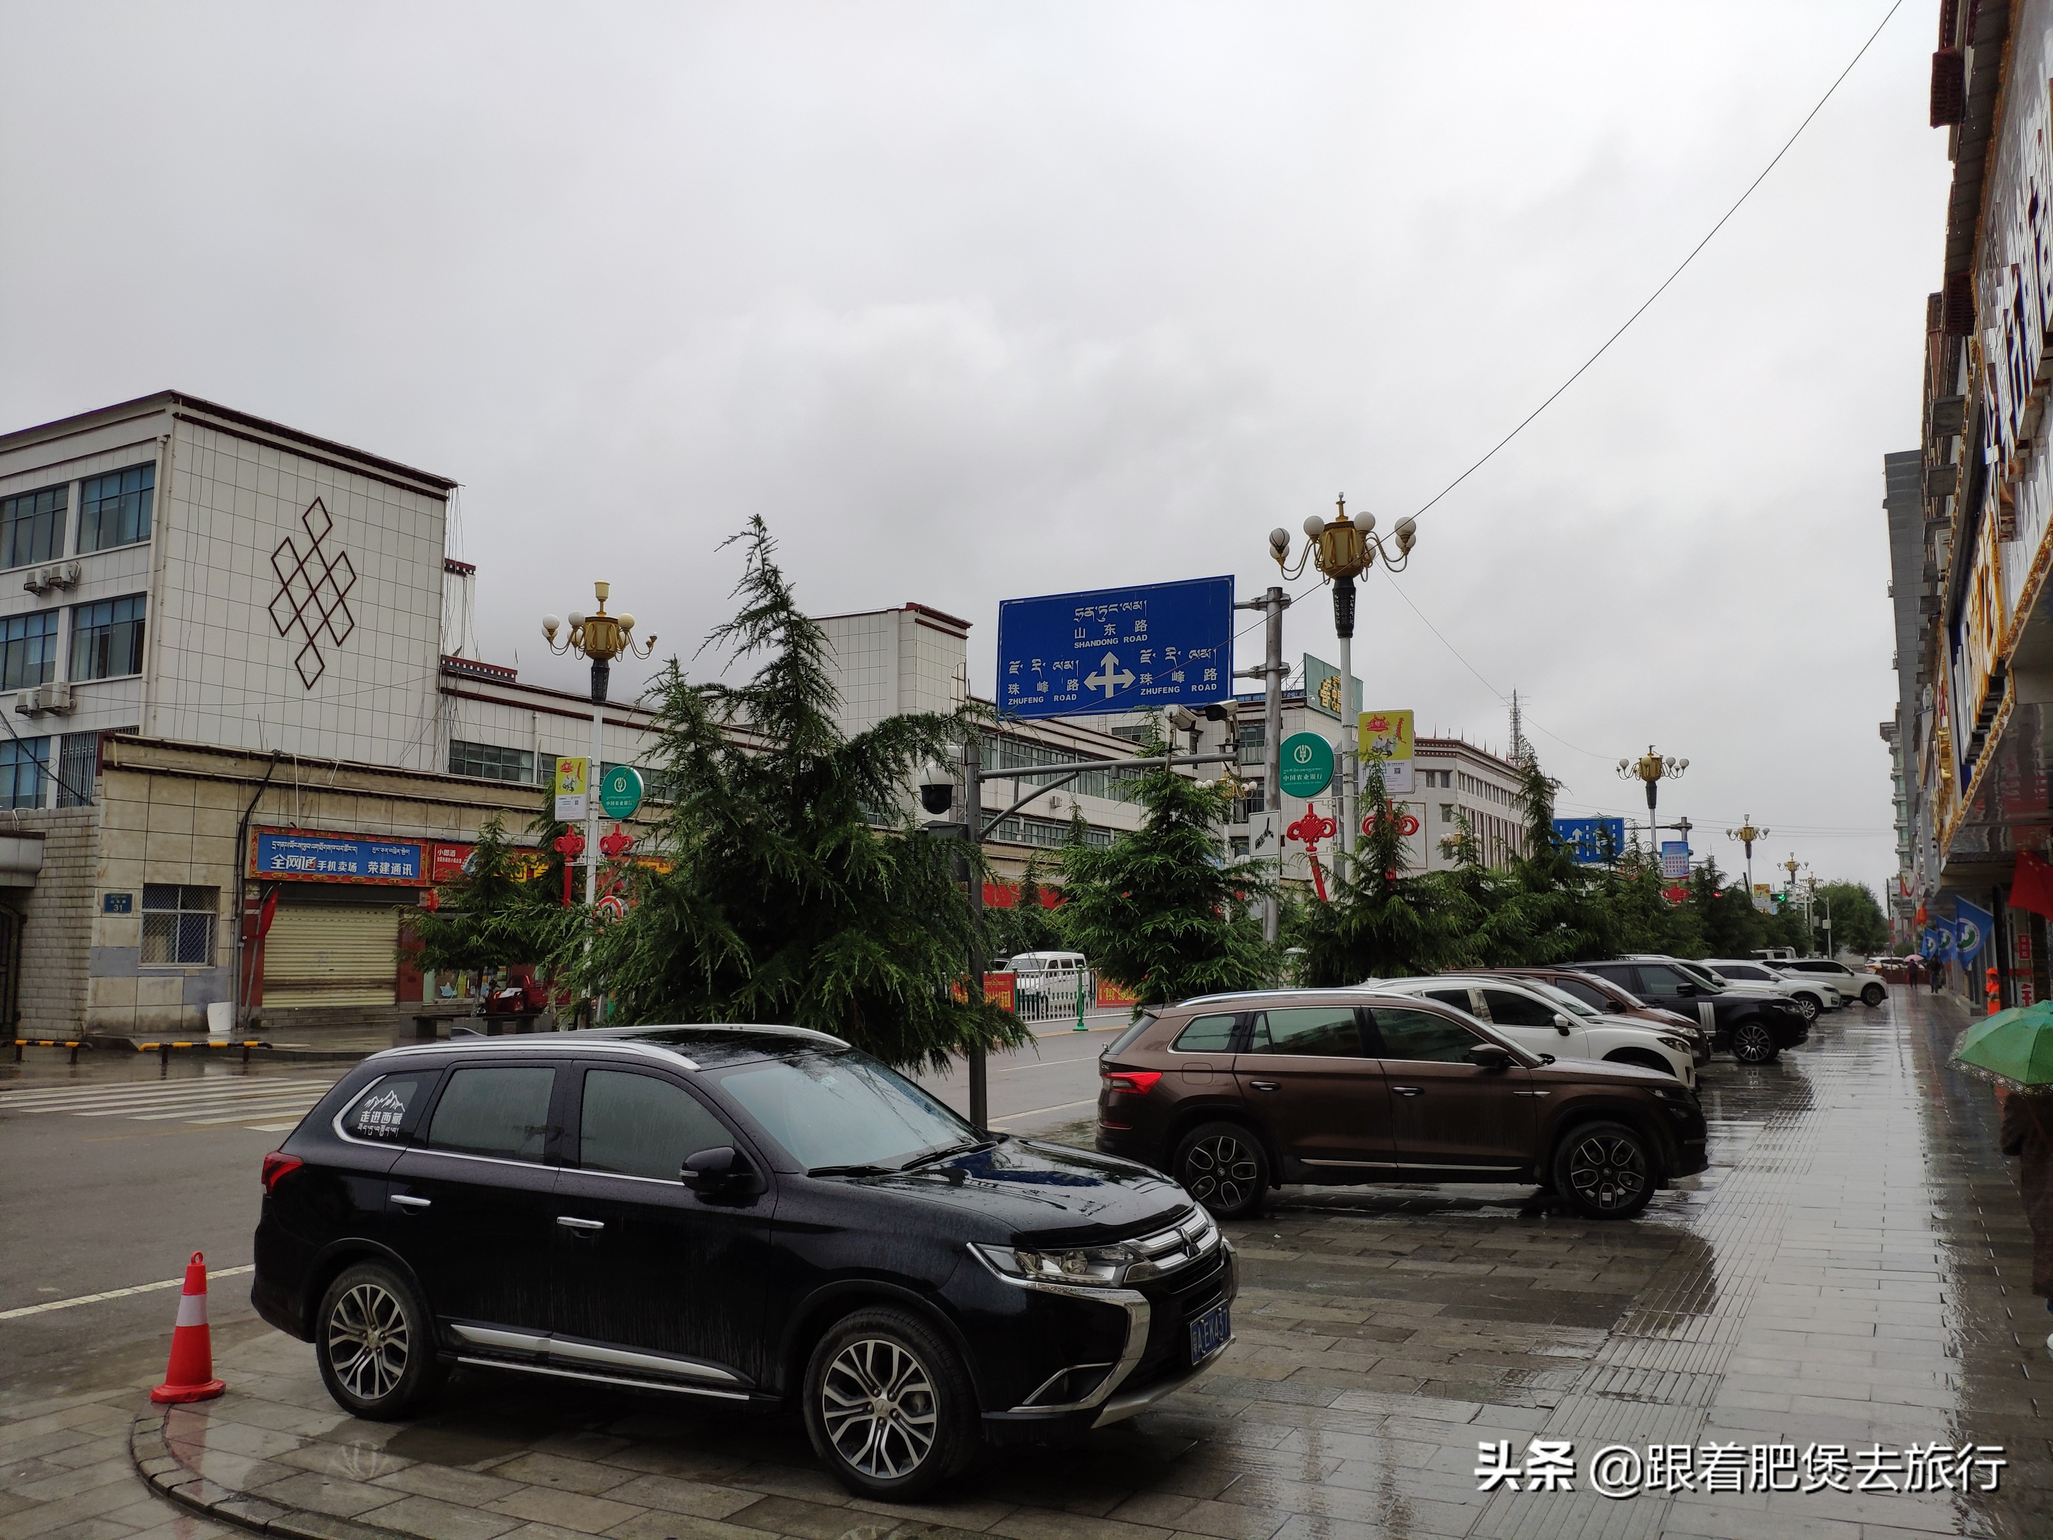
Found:
[[[782,1421],[458,1376],[409,1425],[343,1417],[312,1349],[226,1351],[226,1398],[146,1415],[185,1501],[320,1540],[1353,1540],[2053,1532],[2049,1318],[1993,1154],[1944,1068],[1959,1004],[1835,1012],[1782,1064],[1718,1062],[1712,1168],[1636,1224],[1519,1189],[1324,1189],[1232,1226],[1230,1359],[1074,1450],[985,1452],[938,1501],[850,1499]],[[152,1376],[154,1378],[154,1376]],[[0,1423],[0,1540],[207,1540],[115,1458],[133,1392]],[[2002,1491],[1480,1493],[1478,1443],[2002,1443]],[[125,1485],[123,1485],[125,1478]],[[166,1528],[168,1526],[168,1528]],[[152,1534],[156,1540],[156,1534]]]

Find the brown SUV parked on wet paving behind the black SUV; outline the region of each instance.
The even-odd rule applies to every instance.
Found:
[[[1283,1183],[1538,1183],[1626,1220],[1708,1164],[1673,1076],[1527,1053],[1468,1012],[1367,990],[1265,990],[1146,1014],[1098,1060],[1098,1150],[1222,1218]]]

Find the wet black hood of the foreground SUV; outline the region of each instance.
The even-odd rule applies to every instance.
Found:
[[[1191,1195],[1148,1166],[1033,1140],[1002,1140],[864,1185],[975,1214],[992,1224],[992,1240],[1020,1244],[1123,1240],[1191,1211]]]

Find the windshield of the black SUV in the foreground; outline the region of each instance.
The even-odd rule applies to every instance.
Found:
[[[930,1150],[981,1144],[963,1117],[864,1053],[749,1064],[719,1084],[807,1170],[897,1170]]]

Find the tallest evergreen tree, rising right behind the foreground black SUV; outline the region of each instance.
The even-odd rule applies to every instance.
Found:
[[[909,821],[870,821],[920,764],[946,760],[969,715],[889,717],[846,737],[825,632],[799,610],[768,528],[756,517],[733,540],[747,554],[741,612],[706,645],[760,667],[729,686],[671,659],[651,686],[675,799],[655,844],[673,864],[630,873],[632,908],[589,932],[589,957],[581,942],[558,955],[628,1023],[813,1027],[905,1068],[1026,1041],[1010,1012],[957,998],[987,945],[961,875],[967,860],[983,881],[981,860]]]

